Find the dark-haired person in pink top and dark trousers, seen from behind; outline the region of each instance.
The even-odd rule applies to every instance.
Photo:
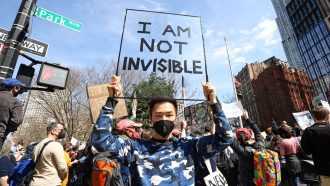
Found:
[[[292,186],[299,184],[299,173],[301,172],[300,161],[297,157],[299,152],[299,142],[292,137],[291,129],[282,125],[278,130],[281,140],[278,145],[280,156],[285,157],[285,168],[289,173],[289,182]]]

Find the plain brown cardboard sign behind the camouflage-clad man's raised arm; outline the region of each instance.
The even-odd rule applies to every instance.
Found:
[[[107,85],[108,84],[87,87],[87,94],[89,98],[93,123],[96,123],[96,120],[100,114],[100,109],[103,107],[109,97]],[[113,118],[115,119],[123,116],[127,116],[125,99],[118,99]]]

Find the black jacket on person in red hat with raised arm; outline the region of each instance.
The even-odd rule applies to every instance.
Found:
[[[248,126],[253,130],[255,143],[251,145],[241,145],[235,138],[231,148],[238,156],[238,182],[239,186],[254,186],[254,168],[253,168],[253,149],[263,149],[265,144],[260,134],[260,129],[257,124],[250,120],[246,120]]]

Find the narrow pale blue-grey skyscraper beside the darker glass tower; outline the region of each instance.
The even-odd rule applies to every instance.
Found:
[[[305,70],[301,55],[299,53],[297,40],[294,35],[288,14],[285,9],[287,0],[272,0],[277,18],[276,24],[282,38],[282,45],[291,67]]]

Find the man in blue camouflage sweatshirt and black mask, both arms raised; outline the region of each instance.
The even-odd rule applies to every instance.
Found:
[[[211,152],[220,152],[232,142],[231,129],[221,105],[216,101],[215,88],[203,84],[204,95],[209,98],[216,134],[201,138],[171,138],[177,114],[177,103],[169,98],[155,98],[149,104],[149,114],[155,133],[151,140],[129,139],[125,145],[113,136],[112,114],[116,106],[114,96],[120,95],[120,77],[113,76],[108,85],[109,98],[101,109],[92,134],[93,146],[98,151],[110,151],[117,159],[130,160],[131,174],[137,174],[136,185],[193,185],[195,164],[211,154],[205,149],[212,145]],[[197,143],[198,142],[198,143]]]

